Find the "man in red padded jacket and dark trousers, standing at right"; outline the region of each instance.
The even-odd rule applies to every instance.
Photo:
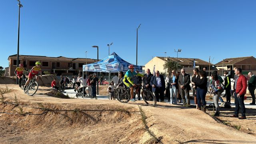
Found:
[[[237,78],[234,83],[234,98],[235,98],[236,108],[235,108],[235,114],[232,117],[238,118],[239,106],[240,106],[242,110],[242,116],[239,119],[246,119],[244,95],[246,94],[247,79],[244,75],[242,75],[241,68],[236,68],[235,74],[237,75]]]

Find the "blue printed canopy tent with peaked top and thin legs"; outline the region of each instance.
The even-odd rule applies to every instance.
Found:
[[[86,71],[108,72],[109,73],[108,80],[110,80],[110,73],[119,72],[119,71],[126,72],[127,70],[129,70],[128,68],[129,65],[130,65],[129,62],[126,62],[125,60],[120,58],[120,56],[118,56],[115,52],[113,52],[103,60],[94,62],[92,64],[83,65],[83,75],[84,75],[84,72]],[[139,72],[142,72],[142,66],[134,65],[134,71],[136,70],[138,70]],[[97,86],[97,89],[98,89],[98,86]],[[83,94],[83,98],[84,98],[84,94]]]

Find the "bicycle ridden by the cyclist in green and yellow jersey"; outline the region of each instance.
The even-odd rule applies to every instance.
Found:
[[[138,84],[134,90],[134,96],[136,96],[138,90],[142,87],[142,84]],[[148,106],[156,106],[156,96],[149,90],[142,87],[141,93],[142,99]],[[127,103],[131,99],[130,88],[118,87],[115,90],[115,97],[119,102]]]

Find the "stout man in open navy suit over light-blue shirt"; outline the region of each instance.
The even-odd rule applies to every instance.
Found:
[[[156,101],[164,102],[164,91],[165,91],[165,81],[164,76],[160,75],[159,71],[156,71],[156,76],[152,76],[150,80],[150,85],[152,86],[152,91],[155,92]]]

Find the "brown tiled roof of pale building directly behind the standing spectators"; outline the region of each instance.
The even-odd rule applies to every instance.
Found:
[[[164,57],[157,56],[158,58],[164,60]],[[179,62],[181,65],[193,65],[194,58],[171,58],[168,57],[168,60]],[[209,62],[206,62],[204,60],[200,60],[198,58],[195,58],[196,65],[209,65]]]

